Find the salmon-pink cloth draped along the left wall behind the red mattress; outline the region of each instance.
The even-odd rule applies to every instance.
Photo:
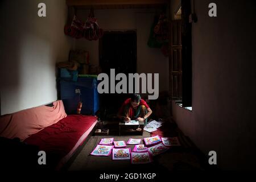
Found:
[[[62,101],[52,107],[38,106],[0,117],[0,137],[24,140],[66,117]]]

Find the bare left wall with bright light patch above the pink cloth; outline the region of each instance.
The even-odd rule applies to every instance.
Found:
[[[47,17],[38,17],[38,3]],[[1,1],[1,114],[57,99],[55,63],[68,59],[72,39],[63,33],[64,0]]]

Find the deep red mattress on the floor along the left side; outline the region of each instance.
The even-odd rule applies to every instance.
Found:
[[[47,164],[51,168],[60,168],[84,142],[96,123],[97,117],[94,116],[68,115],[31,135],[24,142],[39,146],[40,150],[46,151]]]

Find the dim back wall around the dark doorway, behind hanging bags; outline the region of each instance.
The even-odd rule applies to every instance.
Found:
[[[77,16],[79,19],[86,21],[88,14],[88,10],[79,10]],[[137,31],[137,73],[159,73],[159,91],[168,90],[168,58],[163,56],[159,48],[147,46],[155,10],[94,10],[94,15],[104,30]],[[98,40],[79,39],[76,40],[75,46],[78,49],[89,51],[91,64],[99,64]]]

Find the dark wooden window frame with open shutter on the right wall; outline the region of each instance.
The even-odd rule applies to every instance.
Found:
[[[189,23],[191,2],[181,0],[181,20],[170,22],[170,59],[169,81],[170,98],[182,101],[183,107],[192,107],[192,24]],[[174,43],[174,26],[179,24],[178,44]],[[179,59],[175,60],[174,51],[179,50]],[[175,70],[174,63],[178,61],[179,68]],[[174,80],[178,78],[178,80]]]

